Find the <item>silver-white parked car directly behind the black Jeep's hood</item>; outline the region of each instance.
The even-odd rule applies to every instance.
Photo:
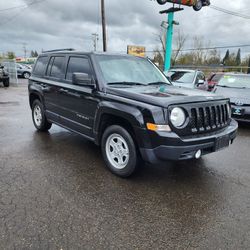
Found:
[[[205,74],[200,70],[172,69],[165,72],[174,86],[208,90]]]

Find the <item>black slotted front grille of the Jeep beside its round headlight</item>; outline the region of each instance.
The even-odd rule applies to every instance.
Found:
[[[190,136],[225,128],[231,120],[228,105],[229,103],[226,101],[178,105],[186,111],[188,121],[183,128],[176,129],[172,126],[172,129],[179,135]]]

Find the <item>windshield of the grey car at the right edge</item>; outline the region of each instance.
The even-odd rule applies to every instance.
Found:
[[[228,88],[250,88],[250,76],[225,75],[219,81],[218,86]]]

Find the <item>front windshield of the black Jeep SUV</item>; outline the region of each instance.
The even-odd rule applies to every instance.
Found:
[[[170,84],[149,60],[130,56],[96,56],[106,84]]]

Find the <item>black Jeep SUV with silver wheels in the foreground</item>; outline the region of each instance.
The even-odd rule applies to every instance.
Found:
[[[198,159],[236,137],[229,99],[174,87],[148,59],[46,52],[29,79],[37,130],[52,123],[101,146],[106,165],[130,176],[140,160]]]

